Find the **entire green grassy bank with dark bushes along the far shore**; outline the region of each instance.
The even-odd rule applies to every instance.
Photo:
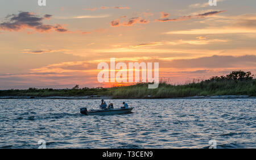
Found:
[[[28,90],[2,90],[0,96],[86,96],[86,95],[108,95],[113,98],[178,98],[186,96],[206,95],[249,95],[256,96],[256,79],[253,75],[243,74],[243,71],[233,71],[221,77],[212,77],[201,82],[192,82],[186,85],[170,85],[160,82],[157,89],[148,89],[148,83],[138,83],[132,86],[112,88],[80,89],[35,89]]]

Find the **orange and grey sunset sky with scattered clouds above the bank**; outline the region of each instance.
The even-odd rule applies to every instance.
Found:
[[[172,83],[256,74],[256,1],[0,1],[0,89],[104,86],[97,65],[159,62]]]

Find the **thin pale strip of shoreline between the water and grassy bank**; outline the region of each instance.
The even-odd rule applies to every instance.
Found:
[[[0,96],[0,99],[255,99],[249,95],[207,95],[172,98],[113,98],[112,96]]]

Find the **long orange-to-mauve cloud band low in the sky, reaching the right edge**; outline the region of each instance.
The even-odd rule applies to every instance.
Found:
[[[128,58],[116,58],[117,61],[129,62]],[[106,60],[96,61],[71,61],[61,62],[60,64],[51,64],[43,66],[42,68],[31,69],[32,73],[73,73],[74,71],[79,73],[97,73],[97,64],[100,61],[109,62]],[[199,58],[178,58],[174,60],[157,57],[137,57],[136,60],[132,61],[158,61],[161,64],[161,68],[167,69],[218,69],[218,68],[244,68],[246,66],[256,66],[255,55],[245,56],[209,56]],[[238,65],[239,64],[239,65]],[[196,70],[198,71],[198,70]]]

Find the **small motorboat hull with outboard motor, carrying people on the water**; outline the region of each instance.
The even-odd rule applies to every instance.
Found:
[[[105,109],[105,110],[90,110],[90,111],[88,111],[87,108],[80,108],[80,113],[84,115],[115,115],[115,114],[130,113],[131,110],[133,110],[133,107],[114,108],[114,109]]]

